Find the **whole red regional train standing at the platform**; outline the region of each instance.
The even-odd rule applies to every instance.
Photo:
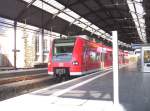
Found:
[[[123,51],[119,50],[119,64],[124,61]],[[77,76],[111,66],[111,47],[93,42],[84,35],[74,36],[54,39],[49,53],[48,74],[55,77]]]

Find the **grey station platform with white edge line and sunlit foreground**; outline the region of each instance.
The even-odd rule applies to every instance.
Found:
[[[116,111],[112,70],[70,81],[0,102],[3,111]],[[136,64],[119,70],[118,111],[150,111],[150,73]]]

